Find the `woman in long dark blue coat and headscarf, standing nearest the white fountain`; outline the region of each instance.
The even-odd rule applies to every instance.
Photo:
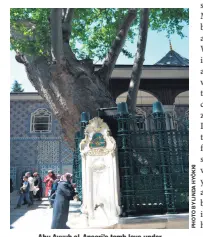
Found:
[[[51,229],[70,229],[68,221],[69,202],[75,194],[74,185],[71,182],[72,174],[66,173],[58,183],[56,197],[53,206],[53,218]]]

